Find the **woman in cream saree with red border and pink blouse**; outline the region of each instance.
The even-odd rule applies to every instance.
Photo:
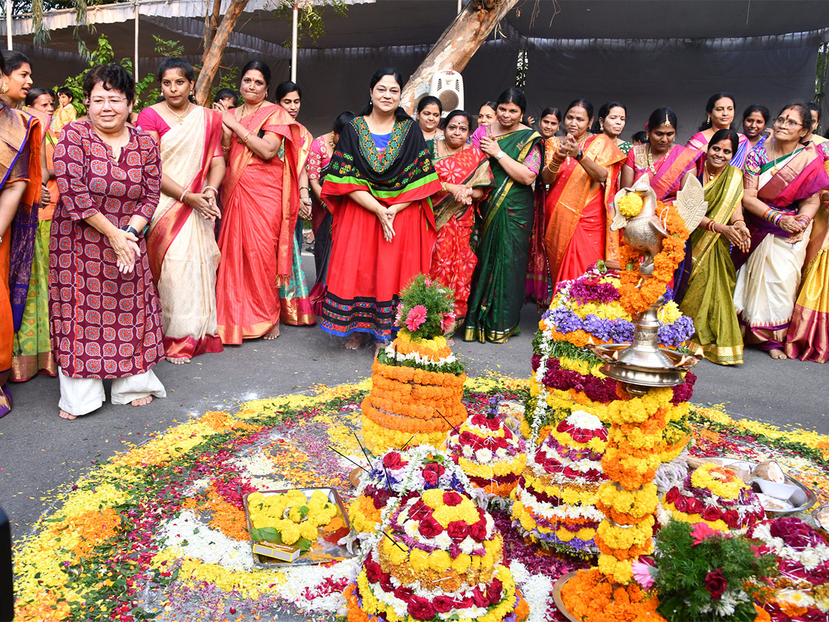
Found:
[[[158,142],[162,194],[147,236],[150,270],[162,306],[167,361],[188,363],[221,352],[216,329],[219,247],[213,227],[216,188],[225,177],[221,116],[193,104],[193,68],[168,58],[158,68],[164,101],[138,114],[136,124]]]

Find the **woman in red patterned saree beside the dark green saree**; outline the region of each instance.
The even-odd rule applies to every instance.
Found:
[[[469,240],[475,224],[478,203],[495,186],[489,158],[478,147],[468,144],[472,119],[463,110],[446,115],[444,139],[426,141],[438,173],[441,191],[432,197],[438,239],[432,251],[429,275],[453,289],[455,319],[452,334],[466,318],[467,300],[478,257]]]

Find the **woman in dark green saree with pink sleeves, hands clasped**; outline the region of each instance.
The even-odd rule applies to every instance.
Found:
[[[498,97],[496,120],[478,127],[469,139],[489,156],[495,189],[481,202],[473,232],[478,265],[464,341],[506,343],[520,330],[535,212],[532,184],[544,162],[541,134],[521,124],[525,111],[523,91],[507,89]]]

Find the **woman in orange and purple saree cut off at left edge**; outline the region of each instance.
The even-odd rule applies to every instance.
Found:
[[[2,83],[10,80],[0,59]],[[31,85],[31,80],[29,80]],[[8,89],[7,89],[8,92]],[[0,417],[12,410],[12,343],[26,307],[41,198],[39,119],[0,104]]]

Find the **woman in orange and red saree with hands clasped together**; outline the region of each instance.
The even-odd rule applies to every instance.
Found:
[[[565,138],[550,148],[541,172],[545,202],[544,245],[554,284],[583,275],[590,264],[618,259],[619,236],[608,209],[618,189],[624,153],[606,134],[591,136],[593,104],[575,100],[565,112]]]

